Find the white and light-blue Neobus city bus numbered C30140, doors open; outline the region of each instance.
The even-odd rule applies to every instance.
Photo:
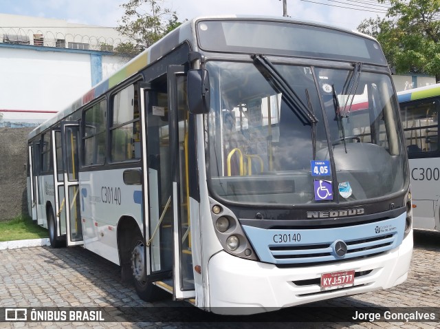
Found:
[[[34,129],[29,162],[52,246],[120,265],[145,300],[264,312],[407,277],[397,96],[357,32],[187,21]]]

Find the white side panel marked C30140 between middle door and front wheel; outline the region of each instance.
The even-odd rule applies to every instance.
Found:
[[[134,197],[136,191],[142,193],[142,186],[124,184],[124,170],[79,173],[84,246],[118,265],[117,229],[120,218],[133,217],[143,231],[142,204],[135,202]]]

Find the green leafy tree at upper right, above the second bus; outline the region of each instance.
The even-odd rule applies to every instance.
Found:
[[[385,0],[378,0],[384,3]],[[366,19],[358,30],[380,42],[399,73],[440,79],[440,0],[390,0],[385,19]]]

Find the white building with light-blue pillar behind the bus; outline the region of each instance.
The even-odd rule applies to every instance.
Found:
[[[0,14],[0,127],[39,125],[130,60],[113,28]]]

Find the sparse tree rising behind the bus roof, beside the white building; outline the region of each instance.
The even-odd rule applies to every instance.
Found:
[[[120,43],[115,52],[129,56],[139,54],[181,25],[176,12],[163,5],[164,0],[129,0],[123,3],[124,15],[116,30],[128,36],[130,41]]]

